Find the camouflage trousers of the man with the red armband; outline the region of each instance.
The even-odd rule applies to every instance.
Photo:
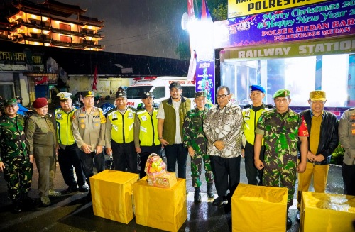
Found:
[[[295,158],[297,160],[297,157]],[[288,189],[288,209],[293,205],[293,195],[295,194],[295,184],[297,179],[297,161],[293,158],[283,162],[278,158],[266,156],[264,160],[263,185],[272,187],[286,187]]]

